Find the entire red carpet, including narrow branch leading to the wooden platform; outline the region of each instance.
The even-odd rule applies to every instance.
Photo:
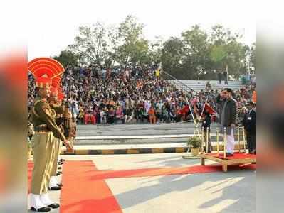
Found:
[[[235,157],[235,156],[234,156]],[[228,170],[256,170],[256,165],[229,165]],[[33,162],[28,162],[28,192],[31,187]],[[196,165],[180,168],[146,168],[135,170],[97,170],[93,161],[66,161],[63,165],[61,213],[122,212],[107,186],[107,178],[132,178],[159,175],[222,172],[221,165]]]

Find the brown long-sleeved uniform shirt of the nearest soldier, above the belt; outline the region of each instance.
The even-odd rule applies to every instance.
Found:
[[[34,107],[31,111],[31,123],[33,126],[46,125],[53,133],[53,136],[65,141],[65,136],[57,126],[54,113],[45,99],[36,98]]]

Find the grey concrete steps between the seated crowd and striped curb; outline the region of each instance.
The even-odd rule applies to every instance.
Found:
[[[211,141],[216,141],[216,127],[211,125]],[[199,131],[201,131],[199,129]],[[194,124],[117,124],[107,126],[78,125],[75,145],[127,145],[186,143],[194,136]],[[236,139],[238,136],[236,135]],[[223,140],[219,136],[219,140]],[[242,132],[240,140],[243,140]]]

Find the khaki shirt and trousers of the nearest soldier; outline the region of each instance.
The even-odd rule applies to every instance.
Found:
[[[65,141],[65,136],[56,125],[53,112],[45,99],[36,98],[31,111],[31,123],[35,135],[31,144],[33,148],[33,175],[31,193],[41,195],[48,192],[52,162],[55,158],[55,137]]]

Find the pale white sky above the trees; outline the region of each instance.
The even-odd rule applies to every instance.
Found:
[[[10,2],[10,1],[9,1]],[[21,12],[24,3],[14,11]],[[23,2],[23,1],[22,1]],[[23,13],[26,25],[13,27],[21,21],[16,18],[5,23],[9,32],[1,36],[12,37],[18,43],[27,43],[28,60],[41,56],[58,55],[73,43],[78,27],[97,21],[119,24],[131,14],[144,23],[144,35],[153,40],[159,35],[166,40],[179,36],[195,24],[209,31],[211,26],[222,24],[233,32],[243,33],[243,43],[256,41],[256,1],[186,1],[186,0],[103,0],[103,1],[29,1],[28,12]],[[17,11],[19,10],[19,11]],[[4,14],[3,14],[4,12]],[[1,16],[5,16],[2,11]],[[24,32],[24,33],[23,33]],[[3,48],[3,47],[2,47]]]

